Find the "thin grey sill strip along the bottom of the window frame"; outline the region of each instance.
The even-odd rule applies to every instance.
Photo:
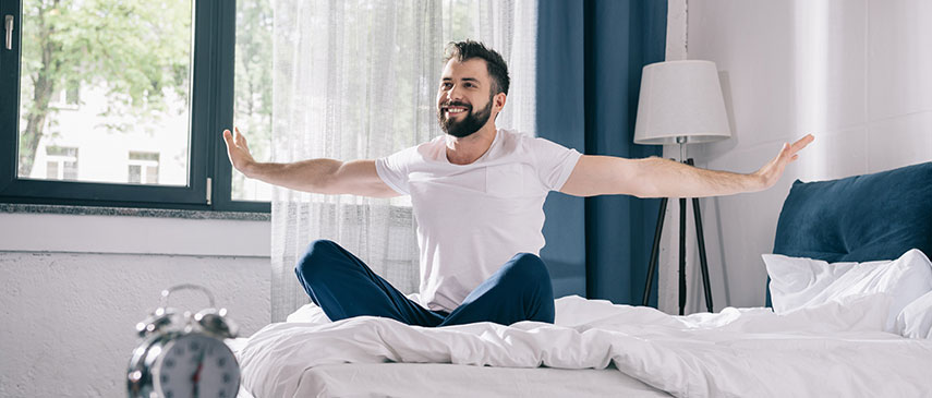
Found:
[[[205,212],[165,208],[63,206],[0,203],[0,213],[66,214],[81,216],[126,216],[184,219],[221,219],[243,221],[269,221],[268,213]]]

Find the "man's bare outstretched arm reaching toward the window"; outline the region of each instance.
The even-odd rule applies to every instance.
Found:
[[[232,134],[229,130],[223,131],[227,154],[233,167],[247,178],[313,193],[372,197],[400,195],[378,177],[375,160],[311,159],[291,164],[258,162],[250,154],[246,138],[239,129],[235,129],[235,132]]]

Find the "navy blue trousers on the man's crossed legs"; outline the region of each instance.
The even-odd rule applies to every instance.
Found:
[[[311,243],[294,273],[330,321],[373,315],[427,327],[486,321],[501,325],[554,323],[550,276],[541,257],[529,253],[512,257],[451,313],[431,311],[408,300],[361,260],[328,240]]]

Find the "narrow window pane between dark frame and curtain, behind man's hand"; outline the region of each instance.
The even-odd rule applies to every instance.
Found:
[[[271,16],[270,0],[237,1],[233,125],[258,161],[271,159]],[[233,169],[231,198],[270,201],[271,186]]]

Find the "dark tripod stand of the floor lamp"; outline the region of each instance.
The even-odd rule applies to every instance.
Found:
[[[682,144],[680,144],[680,153],[682,154]],[[693,166],[692,158],[682,161],[686,165]],[[664,230],[664,214],[667,210],[668,197],[661,200],[661,212],[657,216],[657,228],[654,231],[654,246],[651,249],[651,261],[647,265],[647,284],[644,288],[644,298],[642,305],[647,305],[651,296],[651,282],[654,280],[654,273],[657,269],[657,256],[659,255],[661,232]],[[705,260],[705,238],[702,233],[702,216],[699,209],[699,198],[692,198],[692,214],[695,217],[695,238],[699,244],[699,264],[702,272],[702,287],[705,290],[705,306],[709,312],[712,312],[712,290],[709,284],[709,263]],[[686,310],[686,198],[679,198],[679,314],[682,315]]]

